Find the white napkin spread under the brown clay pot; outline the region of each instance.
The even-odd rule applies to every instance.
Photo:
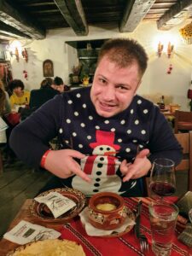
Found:
[[[125,231],[127,226],[131,226],[135,224],[135,221],[131,218],[127,217],[125,218],[125,223],[120,226],[118,229],[115,230],[99,230],[93,227],[88,218],[88,207],[84,208],[84,211],[79,213],[80,219],[82,224],[84,225],[84,228],[86,230],[87,235],[89,236],[110,236],[113,232],[122,233]]]

